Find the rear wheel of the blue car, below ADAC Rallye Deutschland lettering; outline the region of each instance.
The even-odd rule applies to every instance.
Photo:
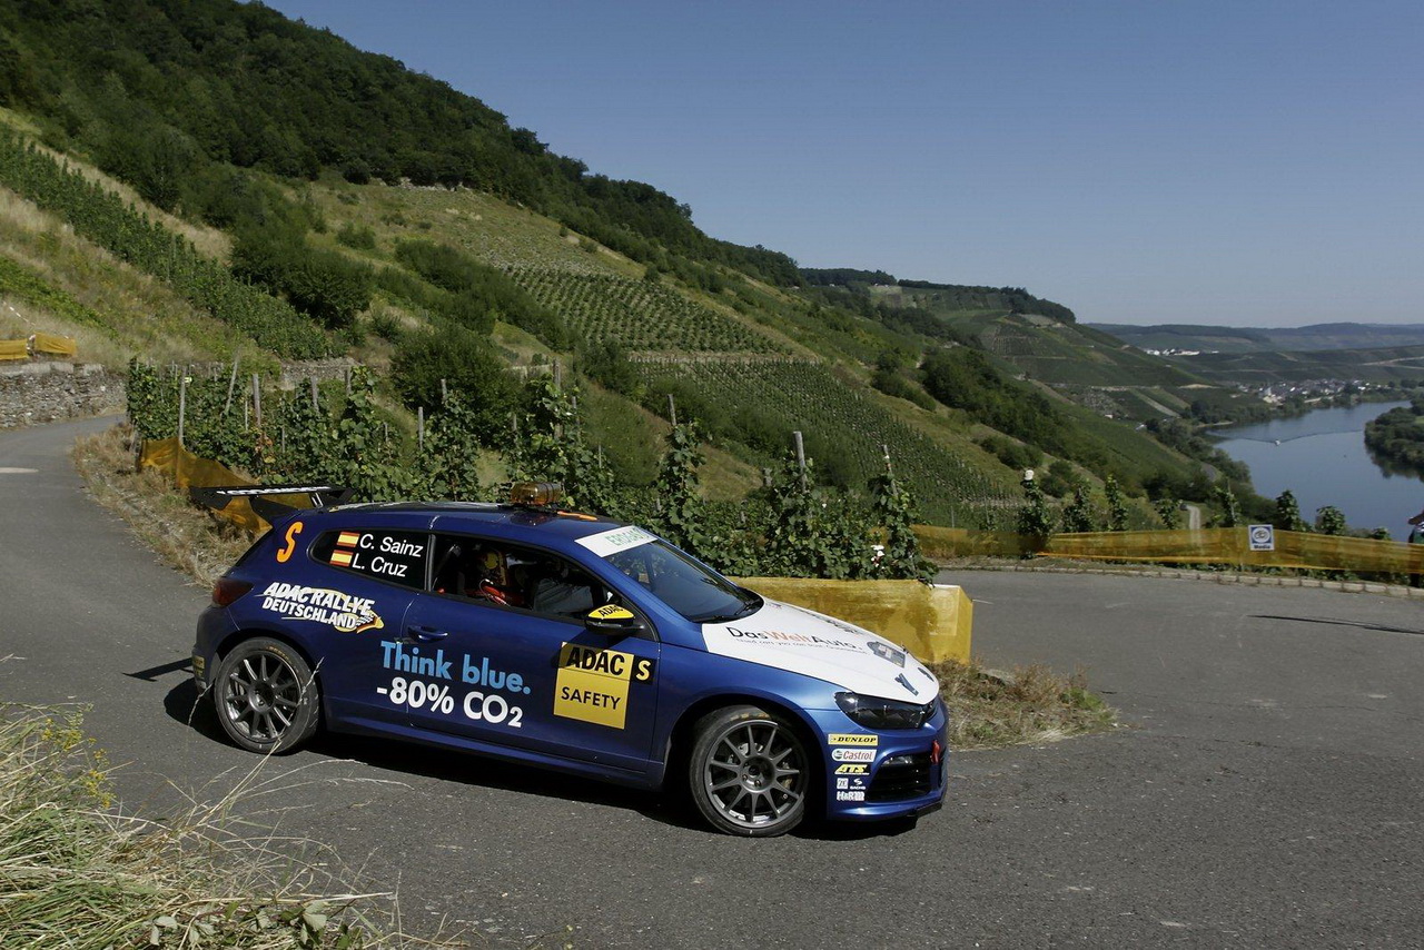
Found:
[[[212,681],[212,705],[234,742],[248,752],[290,752],[316,732],[316,678],[300,654],[271,637],[234,647]]]

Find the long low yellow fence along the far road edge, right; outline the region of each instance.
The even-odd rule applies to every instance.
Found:
[[[1424,574],[1424,544],[1303,531],[1274,531],[1274,550],[1252,550],[1249,528],[1196,531],[1089,531],[1041,538],[1011,531],[970,531],[918,524],[914,533],[927,557],[1065,557],[1166,564],[1294,567],[1326,571]]]

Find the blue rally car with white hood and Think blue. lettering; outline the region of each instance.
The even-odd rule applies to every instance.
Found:
[[[232,741],[289,751],[325,725],[685,782],[732,835],[940,806],[944,704],[904,649],[524,497],[272,516],[198,621],[194,674]]]

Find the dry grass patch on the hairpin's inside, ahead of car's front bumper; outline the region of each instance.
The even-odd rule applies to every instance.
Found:
[[[1088,691],[1082,669],[1061,677],[1034,664],[1002,672],[973,659],[930,669],[950,711],[953,749],[1038,745],[1118,728],[1118,711]]]

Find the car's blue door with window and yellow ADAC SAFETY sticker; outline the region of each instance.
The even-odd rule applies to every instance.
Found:
[[[434,661],[407,698],[412,724],[644,771],[656,638],[587,630],[582,617],[611,591],[561,555],[453,533],[437,533],[433,553],[431,590],[406,615],[407,640]]]

